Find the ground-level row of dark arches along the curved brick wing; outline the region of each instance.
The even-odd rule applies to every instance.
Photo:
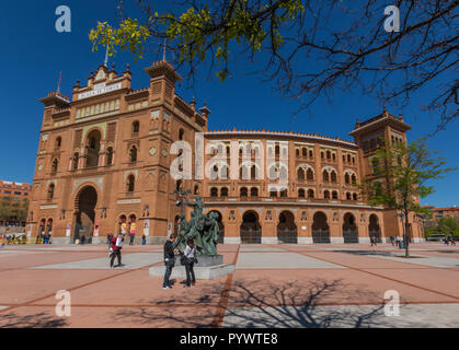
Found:
[[[305,208],[209,208],[219,215],[225,243],[369,243],[382,235],[382,212]]]

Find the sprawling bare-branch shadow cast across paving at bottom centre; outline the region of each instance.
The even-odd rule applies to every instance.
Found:
[[[121,310],[116,320],[131,322],[151,327],[217,327],[221,322],[217,305],[222,288],[206,285],[193,288],[199,295],[182,295],[164,301],[151,301],[159,307]],[[193,290],[192,289],[192,290]],[[371,300],[377,305],[334,305],[335,303],[362,303],[363,299]],[[214,302],[211,302],[214,301]],[[222,327],[244,328],[328,328],[328,327],[370,327],[378,326],[383,317],[382,295],[344,283],[341,279],[325,281],[294,280],[275,284],[266,279],[234,281],[228,294]],[[180,305],[194,305],[180,306]],[[321,306],[322,305],[322,306]],[[217,317],[216,317],[217,316]]]

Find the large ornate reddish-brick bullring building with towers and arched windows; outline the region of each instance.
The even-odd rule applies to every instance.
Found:
[[[51,92],[39,100],[44,117],[28,236],[51,233],[55,242],[72,243],[84,235],[97,242],[125,232],[160,243],[179,226],[177,189],[190,200],[202,197],[205,212],[218,213],[225,243],[368,243],[371,236],[402,236],[395,211],[369,205],[358,189],[363,178],[385,180],[375,173],[372,155],[381,137],[406,141],[411,127],[402,118],[383,110],[357,122],[349,132],[354,141],[208,130],[209,108],[176,94],[181,77],[168,61],[145,72],[149,86],[133,90],[128,66],[122,73],[100,66],[84,85],[77,81],[71,98]],[[183,156],[183,150],[173,150],[176,141],[204,150],[203,158],[192,154],[192,176],[171,176],[171,165]],[[230,165],[213,163],[215,154]],[[195,164],[205,168],[204,177]],[[191,209],[185,210],[190,219]],[[421,218],[410,218],[409,228],[412,242],[423,240]]]

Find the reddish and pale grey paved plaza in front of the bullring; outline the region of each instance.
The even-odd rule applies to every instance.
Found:
[[[218,250],[234,273],[163,290],[149,276],[163,264],[159,245],[125,245],[116,269],[105,245],[1,247],[0,327],[459,327],[459,246],[413,244],[410,259],[390,244]],[[59,290],[68,317],[56,315]],[[399,316],[385,314],[391,290]]]

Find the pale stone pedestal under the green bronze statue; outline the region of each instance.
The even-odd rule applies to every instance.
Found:
[[[149,269],[150,276],[163,277],[164,272],[164,265],[153,266]],[[197,262],[194,265],[194,273],[197,280],[213,280],[232,272],[234,272],[234,265],[223,264],[222,255],[197,257]],[[171,278],[186,278],[185,266],[180,264],[180,257],[175,260]]]

